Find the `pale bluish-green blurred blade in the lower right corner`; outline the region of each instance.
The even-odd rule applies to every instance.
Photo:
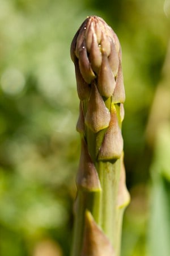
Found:
[[[169,184],[170,187],[170,184]],[[152,256],[168,256],[170,252],[169,198],[160,177],[154,181],[151,193],[150,223],[148,225],[149,250]]]

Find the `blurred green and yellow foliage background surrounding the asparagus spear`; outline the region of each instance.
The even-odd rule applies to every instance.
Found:
[[[88,15],[122,46],[122,256],[170,255],[170,1],[0,0],[2,256],[69,256],[80,151],[70,43]]]

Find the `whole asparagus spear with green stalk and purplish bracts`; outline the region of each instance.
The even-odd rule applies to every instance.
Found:
[[[90,16],[76,32],[71,58],[82,145],[71,256],[119,256],[122,217],[129,203],[121,134],[125,90],[120,43],[103,19]]]

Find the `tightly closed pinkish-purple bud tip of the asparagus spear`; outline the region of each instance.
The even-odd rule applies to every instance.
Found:
[[[113,96],[114,103],[125,101],[120,43],[103,19],[91,16],[83,22],[71,44],[71,58],[80,100],[88,98],[87,85],[96,80],[101,96]]]

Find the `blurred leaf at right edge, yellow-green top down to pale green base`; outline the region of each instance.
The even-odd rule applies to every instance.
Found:
[[[151,256],[170,253],[170,125],[160,126],[151,167],[151,212],[148,246]]]

